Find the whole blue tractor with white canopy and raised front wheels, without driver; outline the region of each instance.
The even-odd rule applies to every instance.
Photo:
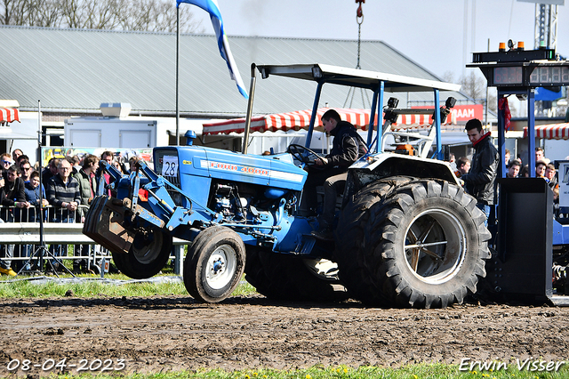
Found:
[[[188,135],[187,146],[154,149],[154,170],[140,163],[123,176],[106,165],[116,195],[94,199],[84,233],[112,252],[117,268],[131,278],[156,275],[172,238],[181,238],[188,241],[184,283],[202,302],[227,298],[243,274],[274,299],[350,296],[373,305],[435,308],[475,293],[491,235],[476,200],[442,160],[440,125],[453,99],[437,110],[397,109],[391,99],[385,120],[383,112],[375,114],[386,92],[432,93],[438,104],[440,91],[460,86],[321,64],[252,65],[251,93],[256,70],[263,78],[316,82],[313,109],[325,84],[373,92],[368,153],[349,167],[335,240],[311,235],[317,214],[303,201],[307,167],[318,156],[309,149],[315,112],[305,144],[283,153],[247,154],[246,129],[242,152],[196,146]],[[432,115],[429,133],[392,130],[402,113]],[[388,151],[397,143],[413,147]]]

